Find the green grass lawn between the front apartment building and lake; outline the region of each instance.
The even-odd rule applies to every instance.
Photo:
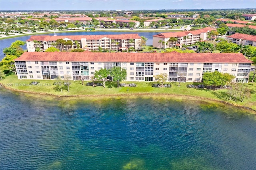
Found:
[[[246,86],[252,90],[251,97],[246,98],[244,102],[229,100],[227,89],[221,90],[208,90],[208,89],[194,89],[187,88],[187,84],[180,83],[180,87],[177,82],[173,82],[171,88],[153,88],[149,82],[132,82],[137,84],[137,87],[119,87],[116,88],[116,82],[106,82],[106,88],[101,86],[92,87],[82,85],[81,81],[71,81],[70,92],[66,87],[63,88],[63,92],[56,90],[56,86],[53,85],[54,80],[35,80],[40,82],[36,86],[28,86],[32,80],[18,80],[15,75],[6,76],[0,83],[8,89],[31,92],[38,94],[50,94],[55,96],[138,96],[138,95],[160,95],[160,96],[182,96],[184,100],[188,97],[195,97],[204,100],[216,100],[229,104],[242,106],[246,108],[252,108],[256,110],[256,83],[248,83]],[[131,83],[131,82],[123,82]],[[86,82],[84,82],[86,84]]]

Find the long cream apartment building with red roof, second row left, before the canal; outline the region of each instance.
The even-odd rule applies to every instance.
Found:
[[[36,48],[44,51],[49,47],[60,48],[56,44],[56,40],[63,39],[65,41],[72,41],[70,48],[80,48],[86,50],[102,50],[110,51],[127,51],[128,48],[133,47],[135,50],[141,49],[141,37],[138,34],[114,34],[114,35],[81,35],[81,36],[30,36],[26,40],[28,52],[35,52]],[[64,50],[68,50],[68,46],[64,46]]]

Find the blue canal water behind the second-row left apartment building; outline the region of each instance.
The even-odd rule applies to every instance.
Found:
[[[152,45],[153,44],[153,35],[156,35],[160,32],[56,32],[56,35],[58,36],[64,36],[64,35],[110,35],[110,34],[138,34],[139,36],[144,36],[148,38],[146,44]],[[36,34],[35,34],[36,35]],[[54,35],[54,33],[51,34],[40,34],[40,35]],[[0,60],[4,58],[3,54],[3,48],[9,47],[12,42],[15,42],[16,40],[22,40],[26,41],[30,38],[30,36],[22,36],[22,37],[16,37],[16,38],[8,38],[4,40],[0,40]],[[22,48],[27,49],[26,46],[23,46]]]

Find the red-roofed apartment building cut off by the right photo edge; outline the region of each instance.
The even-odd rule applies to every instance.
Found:
[[[256,46],[256,36],[248,35],[248,34],[240,34],[236,33],[231,36],[227,36],[226,40],[228,42],[233,42],[235,44],[242,44],[242,45],[250,45]]]

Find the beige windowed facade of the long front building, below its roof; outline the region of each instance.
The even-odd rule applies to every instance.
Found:
[[[81,68],[75,70],[72,68],[74,63],[72,62],[36,62],[36,61],[26,61],[24,67],[26,69],[18,69],[17,65],[20,65],[16,61],[17,75],[18,79],[30,79],[30,80],[43,80],[47,79],[44,77],[44,71],[50,73],[51,76],[60,76],[64,78],[64,75],[69,75],[73,80],[79,80],[79,76],[86,76],[86,80],[90,80],[91,76],[94,76],[96,70],[101,68],[112,68],[113,66],[119,66],[126,69],[127,81],[154,81],[154,75],[161,73],[166,73],[168,75],[167,81],[179,81],[182,77],[183,82],[201,82],[202,75],[204,72],[214,72],[219,71],[222,73],[229,73],[236,76],[236,81],[248,81],[250,64],[239,64],[239,63],[147,63],[147,62],[78,62],[76,66],[81,66],[81,64],[86,64],[88,70],[86,75],[82,75]],[[148,65],[146,65],[148,64]],[[152,64],[150,66],[150,64]],[[84,65],[85,66],[85,65]],[[42,70],[42,67],[48,67]],[[147,67],[147,68],[146,68]],[[136,70],[137,68],[137,70]],[[138,68],[140,70],[138,70]],[[147,70],[148,69],[148,70]],[[24,72],[24,70],[26,71]],[[77,71],[77,72],[76,72]],[[74,78],[74,76],[77,76]]]

